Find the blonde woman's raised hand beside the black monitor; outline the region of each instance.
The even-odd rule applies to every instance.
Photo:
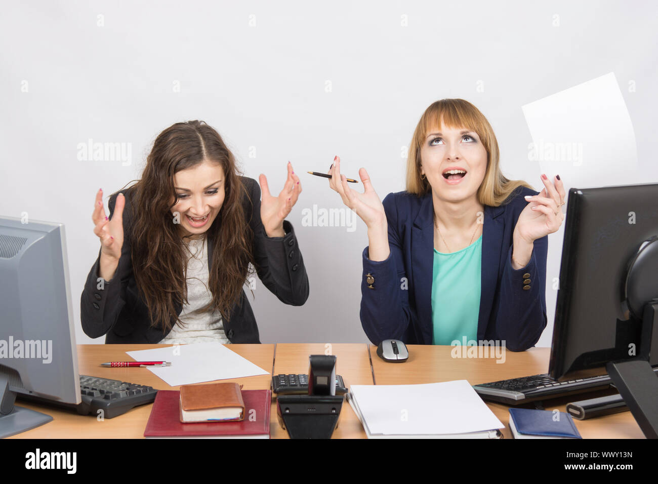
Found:
[[[544,190],[538,195],[526,197],[526,202],[530,203],[520,213],[514,229],[521,240],[529,244],[556,232],[565,219],[562,213],[562,205],[567,202],[565,186],[557,177],[554,178],[555,184],[553,184],[548,178],[544,179],[544,176],[542,175]]]

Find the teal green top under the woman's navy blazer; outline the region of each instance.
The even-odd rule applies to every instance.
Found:
[[[482,236],[470,246],[445,254],[434,249],[432,272],[433,344],[477,340],[482,281]]]

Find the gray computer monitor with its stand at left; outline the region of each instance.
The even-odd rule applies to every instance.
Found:
[[[52,420],[16,394],[79,404],[64,225],[0,217],[0,437]]]

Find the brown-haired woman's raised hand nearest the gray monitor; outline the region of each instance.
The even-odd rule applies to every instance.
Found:
[[[112,279],[116,266],[121,257],[121,248],[123,246],[123,209],[126,205],[126,198],[123,194],[116,196],[114,212],[112,219],[109,220],[105,215],[103,208],[103,190],[98,190],[95,200],[95,208],[91,215],[91,220],[95,227],[95,233],[101,240],[101,264],[99,276],[106,281]]]

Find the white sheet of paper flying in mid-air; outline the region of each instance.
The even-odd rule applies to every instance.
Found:
[[[522,106],[538,161],[569,188],[640,183],[630,115],[614,72]]]

